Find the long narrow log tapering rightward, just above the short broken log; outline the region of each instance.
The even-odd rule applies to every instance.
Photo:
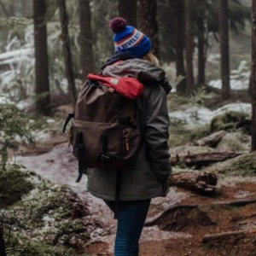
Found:
[[[224,152],[207,152],[199,154],[177,154],[171,156],[172,166],[176,166],[178,163],[183,163],[186,166],[196,166],[201,168],[203,166],[208,166],[212,163],[228,160],[241,155],[241,152],[234,151],[224,151]]]

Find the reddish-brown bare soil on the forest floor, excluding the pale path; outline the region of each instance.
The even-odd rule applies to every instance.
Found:
[[[141,241],[140,255],[256,255],[255,202],[242,207],[216,205],[217,202],[237,201],[239,195],[247,195],[243,200],[255,199],[255,191],[255,183],[236,183],[232,187],[221,187],[218,195],[214,197],[189,195],[179,204],[196,205],[198,208],[195,207],[188,212],[180,207],[162,218],[158,227],[160,230],[172,233],[173,237],[162,240],[159,240],[159,237],[153,237],[152,241]],[[150,208],[149,216],[152,212],[159,211],[154,208]],[[147,230],[143,232],[146,234]],[[180,236],[175,237],[177,234]],[[216,234],[225,236],[212,237],[209,241],[203,241],[204,236]],[[108,247],[112,245],[99,241],[87,247],[86,252],[91,255],[113,255],[107,253]]]

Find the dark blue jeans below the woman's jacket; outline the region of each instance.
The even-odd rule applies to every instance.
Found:
[[[114,201],[105,201],[114,212]],[[142,201],[119,201],[114,256],[137,256],[138,241],[148,214],[150,199]]]

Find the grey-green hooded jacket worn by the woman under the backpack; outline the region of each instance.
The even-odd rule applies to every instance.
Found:
[[[122,172],[120,201],[137,201],[166,196],[172,173],[168,147],[169,115],[166,90],[161,82],[166,73],[143,59],[120,61],[104,68],[103,75],[133,77],[144,84],[137,98],[137,123],[143,127],[143,145],[137,163]],[[87,189],[103,200],[115,200],[117,170],[89,168]]]

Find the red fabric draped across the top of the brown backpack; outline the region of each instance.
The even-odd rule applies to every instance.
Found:
[[[129,99],[136,99],[143,94],[143,84],[134,78],[113,78],[89,73],[87,79],[96,80],[109,88],[113,88],[117,93]]]

